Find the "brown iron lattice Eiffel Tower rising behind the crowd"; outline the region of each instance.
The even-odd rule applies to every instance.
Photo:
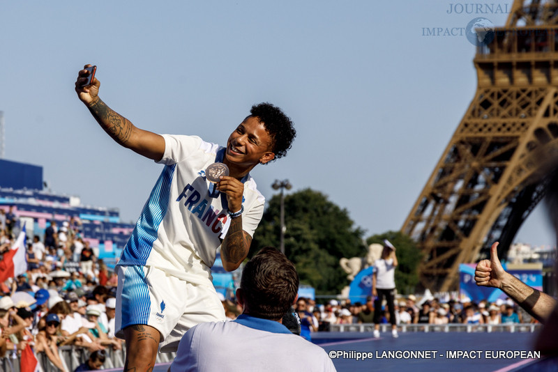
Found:
[[[430,290],[457,289],[460,263],[492,242],[507,255],[558,153],[558,1],[515,0],[492,36],[477,45],[474,98],[402,226]]]

